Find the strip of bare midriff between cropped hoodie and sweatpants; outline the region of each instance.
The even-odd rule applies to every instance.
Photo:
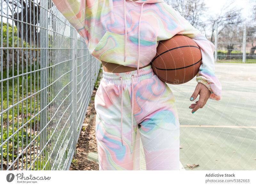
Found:
[[[108,63],[106,61],[101,61],[101,63],[103,66],[103,70],[105,72],[110,72],[110,73],[122,73],[122,72],[130,72],[130,71],[137,70],[136,67],[134,68],[134,67],[130,67],[130,66],[118,65],[115,63]],[[146,66],[149,66],[149,65],[150,65],[150,63]],[[146,66],[142,66],[139,69],[144,68]]]

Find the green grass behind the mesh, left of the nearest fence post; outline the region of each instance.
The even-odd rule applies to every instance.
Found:
[[[30,72],[30,69],[38,69],[38,67],[34,65],[28,66],[27,70],[25,68],[23,71],[21,68],[19,68],[19,72],[17,71],[17,69],[9,69],[8,74],[7,71],[4,70],[3,79]],[[7,142],[4,143],[3,151],[0,151],[0,155],[3,156],[3,163],[5,165],[7,165],[7,163],[10,165],[10,163],[12,163],[13,160],[18,157],[18,155],[19,162],[23,161],[23,165],[26,165],[26,163],[24,163],[24,160],[26,161],[26,159],[34,159],[33,152],[40,140],[40,136],[37,135],[40,118],[39,116],[35,116],[36,113],[39,111],[40,107],[40,95],[35,94],[27,99],[26,97],[38,91],[38,81],[40,81],[40,73],[31,73],[28,75],[18,76],[16,78],[6,80],[1,83],[1,86],[3,87],[3,107],[0,108],[2,111],[8,109],[6,112],[0,115],[1,120],[3,120],[3,127],[1,128],[0,133],[0,136],[3,139],[1,140],[3,140],[4,142],[10,136],[12,136],[14,132],[18,131]],[[23,101],[18,104],[18,102],[21,100]],[[24,125],[24,123],[27,124]],[[22,153],[22,151],[32,140],[34,141]],[[28,154],[27,157],[26,154]],[[29,163],[27,165],[30,166]],[[17,164],[15,166],[17,166]],[[21,167],[21,165],[19,165],[19,167]]]

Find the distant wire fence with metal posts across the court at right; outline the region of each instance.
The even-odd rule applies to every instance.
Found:
[[[212,42],[215,61],[256,63],[256,25],[217,26]]]

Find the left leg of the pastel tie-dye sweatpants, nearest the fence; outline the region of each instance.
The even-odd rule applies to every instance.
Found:
[[[95,132],[100,170],[135,170],[134,141],[138,125],[135,120],[132,125],[131,87],[123,86],[121,127],[121,85],[105,81],[100,82],[95,95]]]

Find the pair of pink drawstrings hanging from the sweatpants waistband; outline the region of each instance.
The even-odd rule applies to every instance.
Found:
[[[132,143],[133,143],[133,77],[134,75],[132,75],[132,126],[131,126],[131,137],[132,137]],[[119,79],[121,80],[121,140],[122,140],[122,145],[124,145],[123,143],[123,78],[119,77]]]

